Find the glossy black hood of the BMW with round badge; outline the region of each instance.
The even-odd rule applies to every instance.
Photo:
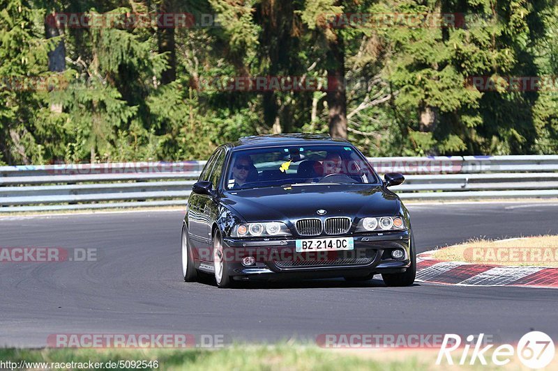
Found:
[[[400,201],[371,184],[327,184],[243,189],[223,194],[222,202],[250,221],[282,221],[319,216],[391,216]]]

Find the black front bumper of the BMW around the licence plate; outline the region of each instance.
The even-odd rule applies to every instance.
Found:
[[[236,279],[272,278],[272,276],[326,278],[366,276],[368,274],[399,273],[409,267],[411,260],[410,232],[355,234],[324,237],[353,237],[354,250],[296,252],[296,237],[269,239],[223,239],[229,276]],[[391,258],[393,249],[405,255]],[[255,258],[255,265],[246,267],[242,259]]]

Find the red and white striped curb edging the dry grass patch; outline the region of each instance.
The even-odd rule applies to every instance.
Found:
[[[434,253],[427,251],[416,256],[415,281],[461,286],[558,288],[558,268],[443,262],[433,258]]]

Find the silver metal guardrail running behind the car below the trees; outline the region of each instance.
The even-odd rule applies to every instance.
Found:
[[[372,157],[401,198],[558,197],[558,155]],[[0,166],[0,213],[185,205],[206,161]]]

